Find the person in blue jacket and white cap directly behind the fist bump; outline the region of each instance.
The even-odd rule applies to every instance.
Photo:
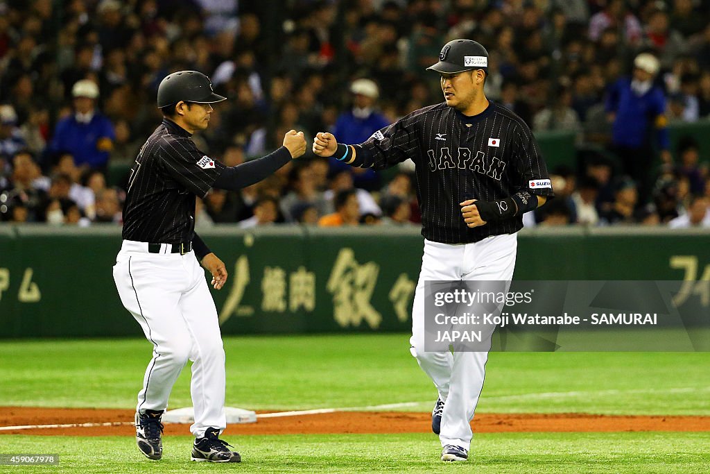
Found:
[[[352,94],[352,107],[343,112],[335,122],[333,134],[343,143],[362,143],[373,133],[390,124],[389,120],[375,108],[380,95],[377,84],[370,79],[356,79],[350,85]],[[332,171],[348,170],[354,173],[356,188],[377,190],[379,178],[377,173],[370,168],[352,168],[330,158]]]

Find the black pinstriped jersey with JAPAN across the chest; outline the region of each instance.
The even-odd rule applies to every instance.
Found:
[[[520,190],[554,195],[530,128],[495,102],[474,117],[445,102],[425,107],[355,148],[364,167],[383,169],[407,158],[414,161],[422,235],[434,242],[478,242],[523,228],[518,216],[471,229],[461,217],[459,203],[464,200],[499,200]]]

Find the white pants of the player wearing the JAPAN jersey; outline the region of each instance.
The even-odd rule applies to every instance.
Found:
[[[496,235],[471,244],[424,242],[410,344],[412,355],[445,402],[439,434],[442,446],[454,444],[466,450],[471,447],[471,419],[484,386],[488,352],[425,352],[425,282],[510,281],[517,249],[515,234]]]

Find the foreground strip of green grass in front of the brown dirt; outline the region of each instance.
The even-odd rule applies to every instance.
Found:
[[[226,437],[239,465],[192,463],[187,436],[166,436],[151,461],[132,438],[6,436],[3,451],[58,453],[58,466],[18,473],[707,473],[708,433],[501,433],[476,436],[468,463],[442,463],[436,436],[425,434]]]

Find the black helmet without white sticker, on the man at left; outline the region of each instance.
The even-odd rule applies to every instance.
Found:
[[[222,102],[226,97],[214,93],[209,77],[197,71],[173,72],[160,81],[158,86],[158,107],[168,107],[185,102],[212,104]]]

